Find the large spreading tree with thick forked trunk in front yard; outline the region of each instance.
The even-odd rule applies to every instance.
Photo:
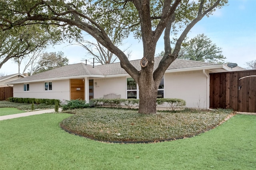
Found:
[[[190,29],[204,16],[221,8],[228,0],[16,0],[1,1],[0,27],[34,23],[55,24],[83,30],[114,53],[122,68],[138,83],[139,113],[156,113],[158,86],[168,66],[178,57],[182,41]],[[130,32],[142,40],[141,70],[137,70],[125,53],[111,41],[110,32],[117,22],[125,25],[120,37]],[[172,51],[170,35],[182,29]],[[156,70],[156,43],[164,34],[164,57]],[[173,35],[173,34],[172,34]],[[122,38],[120,38],[121,40]]]

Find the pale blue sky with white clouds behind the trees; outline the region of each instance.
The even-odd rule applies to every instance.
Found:
[[[222,48],[222,55],[226,57],[226,62],[237,63],[238,66],[246,68],[246,62],[256,60],[256,0],[229,0],[228,6],[216,10],[213,15],[205,16],[199,21],[188,33],[188,39],[202,33],[217,47]],[[124,49],[130,46],[129,60],[142,59],[142,41],[130,36],[124,42]],[[156,54],[163,50],[164,40],[160,37]],[[64,52],[69,59],[69,64],[81,63],[82,59],[91,58],[88,57],[84,48],[69,43],[50,47],[47,51]],[[21,72],[23,67],[22,65]],[[18,73],[18,65],[10,60],[0,69],[0,74],[16,73]]]

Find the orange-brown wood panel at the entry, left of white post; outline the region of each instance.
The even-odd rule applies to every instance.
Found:
[[[84,100],[84,80],[70,79],[70,100]]]

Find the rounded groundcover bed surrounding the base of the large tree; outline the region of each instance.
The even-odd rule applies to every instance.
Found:
[[[137,110],[113,108],[72,109],[60,126],[70,133],[98,141],[148,143],[198,135],[218,126],[232,110],[158,111],[142,115]]]

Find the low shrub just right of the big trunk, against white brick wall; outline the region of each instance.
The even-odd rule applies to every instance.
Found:
[[[166,108],[168,106],[171,108],[171,110],[175,110],[177,107],[184,107],[186,106],[186,101],[182,99],[176,99],[176,98],[158,98],[156,100],[156,103],[158,105],[163,105],[166,103]]]

